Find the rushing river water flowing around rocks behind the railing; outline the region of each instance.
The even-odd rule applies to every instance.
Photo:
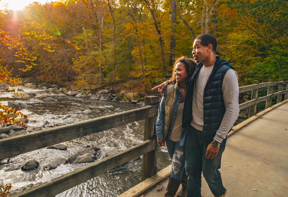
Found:
[[[35,97],[32,97],[35,98],[32,102],[27,102],[29,107],[21,110],[22,113],[28,115],[28,126],[40,126],[43,121],[47,120],[48,124],[45,125],[45,128],[52,128],[137,108],[132,104],[89,100],[89,97],[75,98],[60,92],[30,89],[22,86],[19,88],[22,88],[26,93],[36,94]],[[43,102],[42,100],[46,97],[52,97],[55,102]],[[0,102],[4,105],[7,105],[8,100],[12,100],[12,98],[12,93],[0,92]],[[92,113],[84,113],[83,111],[86,109],[91,110]],[[66,114],[70,114],[71,117],[64,120],[61,119]],[[143,132],[144,120],[141,120],[64,142],[68,147],[65,151],[43,148],[11,157],[8,164],[0,165],[0,183],[11,183],[12,189],[18,189],[30,183],[47,182],[88,164],[68,163],[60,165],[56,169],[48,170],[49,165],[55,158],[62,156],[68,159],[69,154],[83,149],[89,143],[93,143],[100,148],[96,155],[97,160],[99,160],[105,157],[106,148],[117,147],[118,149],[126,149],[129,148],[132,139],[143,141]],[[39,168],[31,171],[22,171],[22,165],[31,159],[39,162]],[[157,152],[158,171],[170,163],[171,159],[166,148],[159,148]],[[142,159],[139,159],[112,169],[62,192],[56,197],[118,196],[140,183],[141,176]]]

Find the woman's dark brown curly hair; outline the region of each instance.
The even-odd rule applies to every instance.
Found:
[[[182,57],[176,59],[176,61],[174,62],[174,65],[173,65],[172,77],[170,78],[170,81],[172,81],[172,83],[176,83],[175,66],[176,66],[176,64],[178,62],[183,63],[184,66],[185,66],[186,72],[188,73],[187,77],[186,77],[187,81],[192,76],[192,74],[193,74],[193,72],[195,70],[195,67],[197,66],[197,63],[192,58],[188,58],[186,56],[182,56]]]

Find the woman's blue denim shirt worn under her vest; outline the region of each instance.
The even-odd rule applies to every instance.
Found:
[[[165,118],[165,102],[166,102],[166,97],[167,97],[166,90],[167,89],[165,89],[165,92],[163,94],[164,96],[162,97],[160,105],[159,105],[159,113],[158,113],[158,118],[156,122],[157,139],[164,139],[163,127],[164,127],[164,118]],[[176,102],[174,103],[174,107],[172,110],[172,115],[171,115],[166,139],[169,139],[171,135],[181,97],[182,97],[182,92],[180,88],[178,88],[177,99],[176,99]],[[186,139],[187,139],[187,129],[183,128],[181,135],[180,135],[180,146],[183,146],[185,144]]]

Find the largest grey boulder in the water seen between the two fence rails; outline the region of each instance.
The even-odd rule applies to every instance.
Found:
[[[71,164],[93,162],[96,159],[96,148],[98,147],[94,147],[94,145],[87,145],[85,149],[72,153],[69,156],[69,162]]]

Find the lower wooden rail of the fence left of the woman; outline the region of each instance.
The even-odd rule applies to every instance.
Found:
[[[119,153],[90,163],[82,168],[76,169],[65,175],[59,176],[51,181],[42,183],[36,187],[25,190],[13,197],[53,197],[76,185],[86,182],[104,172],[107,172],[119,165],[129,162],[132,159],[156,149],[157,141],[150,139],[139,145],[133,146]]]

